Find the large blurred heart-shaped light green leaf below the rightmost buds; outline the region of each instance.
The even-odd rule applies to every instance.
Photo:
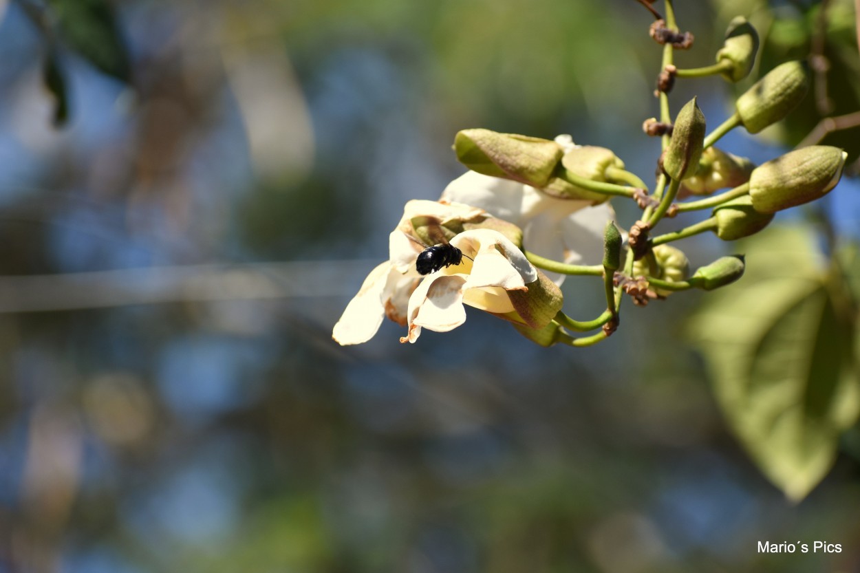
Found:
[[[751,239],[747,272],[691,318],[717,401],[759,469],[798,501],[857,421],[860,386],[851,324],[841,320],[810,234],[777,229]],[[768,275],[758,261],[781,273]]]

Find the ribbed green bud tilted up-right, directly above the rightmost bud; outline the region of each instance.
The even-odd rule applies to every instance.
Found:
[[[746,131],[758,133],[796,108],[808,89],[806,62],[786,62],[747,89],[734,103],[734,108]]]

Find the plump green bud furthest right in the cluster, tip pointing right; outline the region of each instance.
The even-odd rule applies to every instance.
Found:
[[[776,213],[826,195],[836,187],[848,154],[830,145],[789,151],[753,169],[750,196],[759,213]]]

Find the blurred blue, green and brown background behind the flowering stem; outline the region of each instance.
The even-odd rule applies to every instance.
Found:
[[[725,22],[677,4],[679,62],[710,63]],[[695,293],[625,301],[595,348],[479,312],[415,345],[393,323],[330,339],[403,203],[464,171],[459,129],[571,133],[650,180],[660,48],[637,3],[105,6],[0,2],[0,572],[860,571],[857,431],[787,502],[685,340]],[[726,116],[720,80],[676,108],[694,94]],[[855,190],[826,200],[846,236]],[[565,293],[599,313],[595,281]]]

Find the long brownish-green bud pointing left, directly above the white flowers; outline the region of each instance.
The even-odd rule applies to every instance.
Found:
[[[549,139],[531,138],[488,129],[464,129],[454,139],[457,158],[483,175],[513,179],[537,188],[549,181],[564,155]]]

